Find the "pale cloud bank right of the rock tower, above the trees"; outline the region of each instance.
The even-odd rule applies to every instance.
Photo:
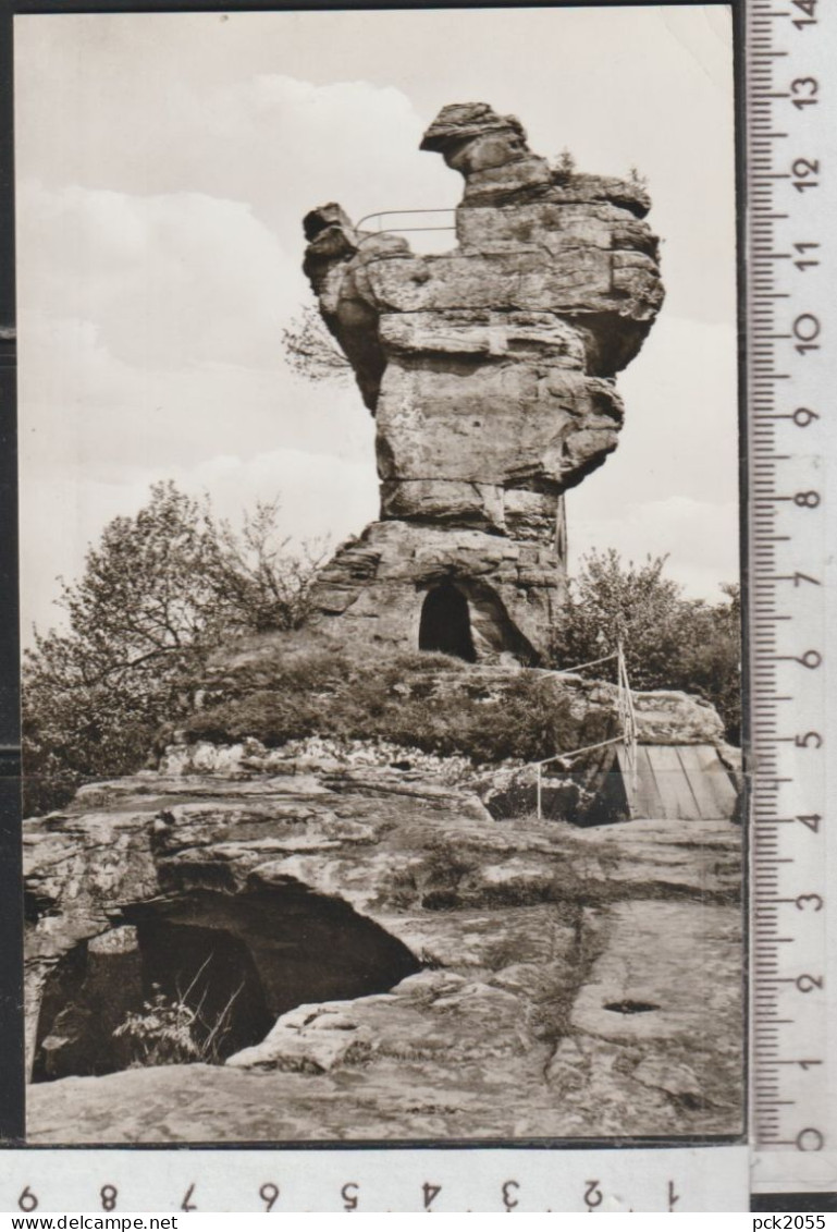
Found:
[[[668,554],[666,573],[693,598],[718,599],[739,577],[736,331],[678,320],[665,308],[619,373],[619,445],[567,493],[570,569],[591,549]]]

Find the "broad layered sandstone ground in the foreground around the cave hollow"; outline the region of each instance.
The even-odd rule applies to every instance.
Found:
[[[32,1042],[71,946],[106,956],[132,907],[190,896],[250,947],[267,1008],[293,981],[297,1004],[225,1064],[33,1084],[30,1141],[736,1133],[740,839],[725,821],[496,821],[374,766],[85,788],[27,824]],[[97,970],[98,995],[108,970],[124,983]],[[59,1057],[75,1046],[52,1031]]]

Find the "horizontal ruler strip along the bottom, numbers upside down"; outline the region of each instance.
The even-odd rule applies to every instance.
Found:
[[[32,1151],[0,1211],[625,1214],[746,1211],[743,1146],[673,1149]],[[182,1227],[183,1225],[178,1225]]]

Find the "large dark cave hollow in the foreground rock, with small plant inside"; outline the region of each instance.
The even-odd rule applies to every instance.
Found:
[[[297,1005],[386,992],[420,970],[391,934],[302,885],[137,903],[48,976],[32,1079],[220,1063]],[[130,1015],[142,1021],[121,1031]],[[166,1031],[180,1032],[181,1045],[166,1042]],[[186,1055],[183,1031],[193,1045]]]

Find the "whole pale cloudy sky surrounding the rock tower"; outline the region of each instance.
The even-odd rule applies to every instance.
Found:
[[[548,156],[638,166],[665,308],[619,377],[617,453],[567,500],[592,547],[671,553],[692,595],[737,574],[735,201],[726,6],[17,17],[23,631],[57,575],[171,477],[288,532],[377,513],[373,421],[311,384],[282,328],[311,301],[300,221],[340,201],[452,207],[418,150],[446,102],[513,112]],[[452,237],[441,233],[442,245]]]

